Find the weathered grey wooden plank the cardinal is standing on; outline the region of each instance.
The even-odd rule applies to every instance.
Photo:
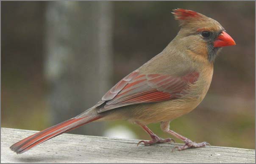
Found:
[[[207,146],[173,151],[180,144],[136,146],[138,140],[61,134],[17,155],[9,147],[36,131],[1,128],[1,163],[255,163],[255,150]]]

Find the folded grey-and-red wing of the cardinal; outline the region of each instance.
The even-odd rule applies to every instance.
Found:
[[[189,83],[197,81],[198,76],[197,72],[191,72],[182,77],[143,75],[139,74],[139,70],[135,70],[113,86],[95,106],[99,106],[100,113],[127,105],[177,98],[179,94],[186,91]]]

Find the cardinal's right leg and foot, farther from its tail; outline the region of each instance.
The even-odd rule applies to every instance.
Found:
[[[193,142],[192,140],[189,140],[188,138],[182,136],[181,134],[178,134],[176,132],[174,132],[173,130],[170,130],[170,121],[164,121],[161,122],[161,129],[164,132],[167,132],[168,134],[172,134],[174,137],[182,140],[183,142],[185,142],[185,145],[183,146],[176,146],[173,148],[173,150],[175,148],[178,148],[179,151],[185,150],[187,148],[200,148],[200,147],[204,147],[206,145],[210,145],[208,142],[200,142],[200,143],[196,143]]]

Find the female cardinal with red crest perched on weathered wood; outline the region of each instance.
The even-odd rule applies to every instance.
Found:
[[[163,132],[182,140],[178,151],[200,148],[196,143],[170,129],[170,122],[195,109],[211,84],[214,59],[224,46],[236,45],[233,38],[214,19],[201,13],[176,8],[172,11],[180,30],[173,40],[148,62],[114,85],[93,107],[55,126],[37,132],[11,145],[17,154],[82,125],[96,121],[126,120],[147,132],[143,145],[174,142],[163,139],[148,127],[160,123]]]

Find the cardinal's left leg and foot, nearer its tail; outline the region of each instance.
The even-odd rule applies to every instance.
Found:
[[[145,132],[147,132],[147,134],[149,134],[149,136],[152,138],[152,140],[150,141],[144,141],[144,140],[141,140],[138,142],[137,146],[143,142],[144,145],[152,145],[152,144],[155,144],[155,143],[164,143],[164,142],[175,142],[173,139],[171,138],[166,138],[166,139],[162,139],[160,137],[158,137],[156,134],[154,134],[146,125],[144,124],[141,124],[139,121],[135,121],[136,124],[138,124],[139,126],[142,127],[142,129],[145,130]]]

